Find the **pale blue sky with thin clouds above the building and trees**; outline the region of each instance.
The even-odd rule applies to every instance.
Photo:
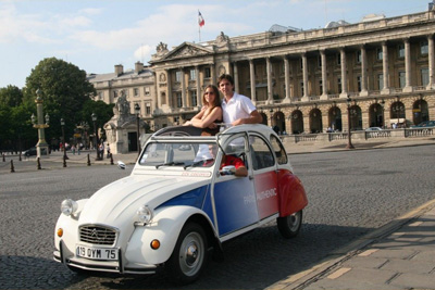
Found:
[[[430,0],[0,0],[0,88],[23,88],[40,61],[57,58],[87,74],[145,65],[156,47],[264,33],[274,24],[303,30],[368,14],[427,10]],[[206,24],[199,28],[198,11]]]

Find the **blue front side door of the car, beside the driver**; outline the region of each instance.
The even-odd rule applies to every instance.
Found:
[[[226,146],[223,149],[226,154],[241,159],[246,156],[248,142],[245,134],[229,138],[225,143]],[[245,159],[245,165],[249,168],[247,159]],[[250,226],[257,224],[258,210],[251,176],[216,175],[213,184],[213,197],[217,220],[216,227],[221,238],[224,236],[237,236],[240,230],[247,230]]]

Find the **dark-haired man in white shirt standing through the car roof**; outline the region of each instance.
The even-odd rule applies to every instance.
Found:
[[[234,79],[231,75],[221,75],[217,84],[219,90],[224,96],[222,100],[224,123],[237,126],[241,124],[257,124],[263,121],[252,101],[248,97],[234,91]]]

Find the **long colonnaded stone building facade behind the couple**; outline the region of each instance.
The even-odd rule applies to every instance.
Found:
[[[433,10],[303,31],[221,33],[171,50],[159,43],[147,77],[90,81],[105,102],[128,88],[132,106],[135,89],[148,86],[137,101],[153,129],[191,118],[223,73],[282,134],[410,126],[435,118],[434,35]]]

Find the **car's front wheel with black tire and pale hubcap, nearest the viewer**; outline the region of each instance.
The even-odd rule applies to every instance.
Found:
[[[176,285],[187,285],[198,279],[208,260],[208,241],[204,230],[195,223],[186,224],[165,264],[167,278]]]

